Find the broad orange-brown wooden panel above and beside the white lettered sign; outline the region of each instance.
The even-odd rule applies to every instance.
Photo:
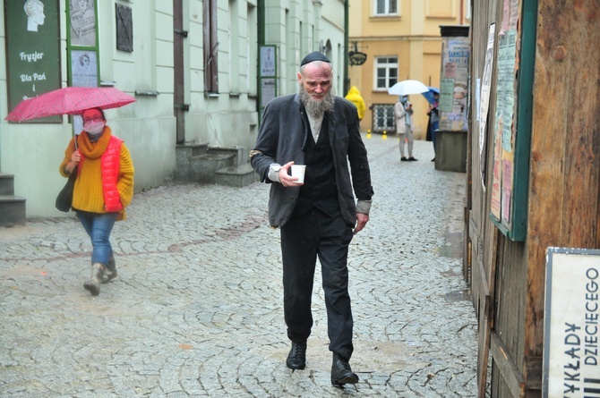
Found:
[[[539,0],[538,11],[525,359],[544,350],[546,249],[599,247],[600,2]]]

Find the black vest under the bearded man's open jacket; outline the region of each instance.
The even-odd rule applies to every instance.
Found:
[[[315,143],[313,134],[304,146],[304,185],[300,187],[295,216],[302,216],[314,207],[329,216],[339,214],[338,185],[336,184],[333,154],[331,153],[328,116],[325,115]],[[310,129],[309,129],[310,130]]]

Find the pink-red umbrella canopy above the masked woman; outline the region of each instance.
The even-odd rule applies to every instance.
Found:
[[[110,109],[134,101],[134,97],[113,87],[64,87],[22,100],[4,119],[23,122],[56,114],[81,114],[90,108]]]

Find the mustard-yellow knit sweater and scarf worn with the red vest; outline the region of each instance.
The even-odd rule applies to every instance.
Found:
[[[106,213],[104,208],[104,195],[102,192],[102,175],[100,172],[100,157],[107,149],[108,140],[110,140],[111,131],[105,127],[102,136],[98,142],[90,142],[88,133],[83,131],[78,136],[77,144],[81,152],[81,173],[75,180],[73,189],[73,208],[92,213]],[[71,155],[75,151],[74,139],[69,142],[69,146],[64,150],[64,160],[60,165],[60,174],[68,177],[64,171],[64,166],[71,162]],[[121,145],[121,165],[116,182],[116,188],[121,197],[123,207],[127,207],[133,198],[133,163],[129,154],[129,149],[125,144]],[[73,170],[77,173],[77,167]],[[118,220],[125,218],[125,210],[119,212]]]

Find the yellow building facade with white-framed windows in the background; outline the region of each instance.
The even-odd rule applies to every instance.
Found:
[[[366,55],[362,65],[350,66],[349,84],[359,89],[366,105],[361,128],[393,131],[391,106],[398,96],[388,94],[397,81],[419,80],[440,87],[441,25],[470,21],[467,0],[349,0],[348,48]],[[416,139],[424,139],[427,101],[410,96],[414,105]]]

